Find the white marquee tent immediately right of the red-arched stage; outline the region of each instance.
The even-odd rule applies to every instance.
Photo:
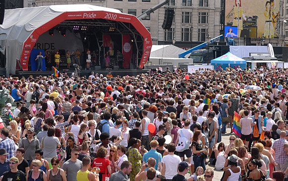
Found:
[[[183,52],[184,49],[174,45],[152,45],[150,57],[179,58],[179,54]],[[188,58],[189,55],[185,57]]]

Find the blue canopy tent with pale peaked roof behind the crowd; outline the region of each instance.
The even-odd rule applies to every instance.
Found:
[[[228,52],[225,55],[211,60],[211,65],[214,65],[214,69],[216,71],[219,71],[221,68],[225,70],[229,66],[233,69],[237,69],[239,67],[244,69],[246,68],[246,60],[236,57]]]

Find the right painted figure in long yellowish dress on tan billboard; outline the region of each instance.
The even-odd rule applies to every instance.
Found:
[[[274,26],[272,23],[270,1],[267,1],[265,5],[266,5],[266,9],[264,11],[264,17],[265,17],[264,37],[265,38],[273,38],[274,37]]]

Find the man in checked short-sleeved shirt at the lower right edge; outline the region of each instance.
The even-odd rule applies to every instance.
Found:
[[[288,143],[286,138],[286,132],[281,131],[280,133],[280,139],[276,140],[272,146],[272,148],[275,150],[275,163],[277,164],[275,166],[275,171],[282,171],[283,173],[288,168],[288,155],[285,152],[284,144]],[[287,178],[287,175],[286,177]]]

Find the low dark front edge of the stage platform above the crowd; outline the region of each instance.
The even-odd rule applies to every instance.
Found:
[[[72,73],[74,72],[74,70],[72,70],[72,68],[69,71],[63,71],[63,70],[59,70],[59,73],[63,74],[63,73],[67,73],[68,76],[71,76]],[[120,70],[102,70],[100,69],[100,67],[91,67],[91,70],[80,70],[80,77],[86,76],[86,78],[88,78],[88,76],[91,75],[91,72],[94,72],[94,74],[98,73],[99,75],[102,74],[104,77],[108,74],[108,72],[111,72],[111,74],[113,75],[113,77],[117,77],[117,76],[137,76],[139,74],[145,74],[145,73],[149,73],[150,70],[148,69],[120,69]],[[33,76],[34,78],[37,76],[50,76],[54,74],[54,71],[18,71],[16,72],[16,77],[25,77],[28,78],[29,76]]]

